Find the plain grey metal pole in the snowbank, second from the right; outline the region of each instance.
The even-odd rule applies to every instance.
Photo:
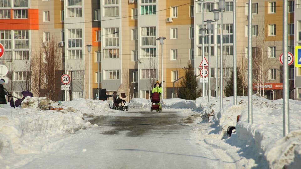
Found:
[[[253,123],[253,87],[252,87],[252,0],[249,0],[248,25],[248,123]]]

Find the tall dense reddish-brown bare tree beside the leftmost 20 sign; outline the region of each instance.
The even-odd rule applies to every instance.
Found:
[[[44,42],[45,43],[45,42]],[[43,64],[43,72],[45,77],[44,88],[48,92],[50,100],[57,100],[60,90],[60,70],[62,69],[61,63],[61,48],[58,47],[57,39],[52,36],[43,47],[45,54],[45,62]]]

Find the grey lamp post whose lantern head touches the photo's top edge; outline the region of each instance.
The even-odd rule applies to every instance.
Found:
[[[219,87],[219,109],[223,108],[223,11],[225,9],[226,3],[225,0],[219,0],[219,9],[220,9],[220,87]]]

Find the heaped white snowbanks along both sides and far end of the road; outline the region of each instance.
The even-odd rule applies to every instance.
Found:
[[[253,158],[254,163],[246,168],[301,168],[301,102],[290,100],[290,133],[283,137],[283,100],[267,100],[253,96],[253,124],[248,121],[248,98],[238,96],[238,104],[233,105],[233,97],[223,100],[219,110],[219,100],[198,98],[196,100],[165,99],[164,110],[192,110],[199,118],[192,124],[202,126],[211,124],[211,129],[202,128],[190,133],[195,141],[207,134],[218,137],[225,145],[235,146],[245,158]],[[150,100],[135,98],[129,103],[130,109],[149,111]],[[48,110],[48,107],[63,110]],[[89,116],[123,115],[125,111],[111,110],[108,102],[78,99],[56,103],[47,98],[26,98],[22,109],[9,105],[0,108],[0,168],[20,167],[24,162],[33,160],[23,155],[44,154],[55,147],[56,142],[78,130],[97,127],[87,122]],[[240,120],[236,123],[237,115]],[[85,117],[85,119],[84,119]],[[236,133],[227,138],[228,126],[236,126]],[[230,151],[229,151],[230,152]],[[22,159],[22,163],[18,163]],[[252,166],[252,165],[253,166]]]

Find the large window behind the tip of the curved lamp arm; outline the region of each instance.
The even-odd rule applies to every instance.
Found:
[[[105,46],[119,46],[119,28],[105,28]]]

